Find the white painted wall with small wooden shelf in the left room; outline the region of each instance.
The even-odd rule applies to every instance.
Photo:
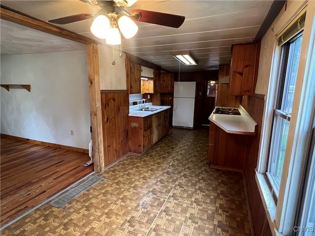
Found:
[[[0,132],[88,148],[91,136],[86,58],[86,51],[1,55],[1,84],[30,84],[31,92],[1,88]]]

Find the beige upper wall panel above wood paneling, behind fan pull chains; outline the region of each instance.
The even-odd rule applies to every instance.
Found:
[[[125,58],[126,54],[122,53],[123,58],[119,57],[120,51],[103,45],[98,45],[98,59],[99,59],[99,79],[101,90],[126,90],[126,68]]]

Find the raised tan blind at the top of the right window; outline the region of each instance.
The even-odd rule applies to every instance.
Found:
[[[302,11],[293,21],[278,35],[278,46],[282,46],[296,34],[304,29],[306,11]]]

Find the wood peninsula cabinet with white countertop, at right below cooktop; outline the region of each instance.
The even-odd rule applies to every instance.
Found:
[[[240,115],[229,115],[230,108],[223,109],[227,114],[213,112],[209,117],[208,160],[213,166],[243,170],[248,137],[256,135],[257,123],[241,105],[237,108]]]

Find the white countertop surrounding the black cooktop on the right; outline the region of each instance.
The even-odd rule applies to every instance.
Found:
[[[241,105],[238,110],[241,113],[240,116],[211,113],[209,120],[227,133],[255,135],[257,125],[255,120]]]

